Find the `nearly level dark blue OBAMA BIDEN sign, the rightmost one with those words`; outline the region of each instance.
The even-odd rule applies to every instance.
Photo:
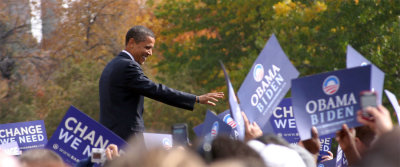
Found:
[[[311,138],[315,126],[320,137],[333,137],[342,124],[360,126],[356,112],[359,94],[371,90],[372,66],[326,72],[292,80],[292,103],[300,139]]]

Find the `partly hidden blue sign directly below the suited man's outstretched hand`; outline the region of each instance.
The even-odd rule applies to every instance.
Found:
[[[203,132],[201,136],[203,137],[209,136],[215,138],[218,135],[229,136],[231,133],[232,133],[232,128],[228,124],[219,119],[211,111],[209,110],[207,111],[203,125]]]

